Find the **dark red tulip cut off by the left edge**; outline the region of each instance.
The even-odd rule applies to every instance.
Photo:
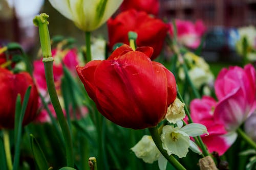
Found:
[[[23,102],[25,92],[30,85],[32,88],[23,125],[27,125],[36,117],[38,108],[38,92],[36,86],[27,72],[13,74],[7,69],[0,68],[0,129],[14,127],[17,94],[20,94]]]

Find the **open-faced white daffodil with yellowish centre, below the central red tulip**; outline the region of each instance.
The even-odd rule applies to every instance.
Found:
[[[161,140],[163,142],[163,149],[167,151],[168,155],[175,154],[179,158],[185,157],[188,153],[188,148],[194,152],[200,152],[196,149],[194,142],[191,142],[189,136],[199,136],[208,133],[204,125],[188,124],[181,127],[166,125],[163,127]],[[190,146],[191,145],[191,146]]]

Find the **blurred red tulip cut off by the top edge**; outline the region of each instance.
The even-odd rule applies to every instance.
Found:
[[[157,15],[159,6],[160,3],[158,0],[124,0],[120,9],[121,11],[136,9],[137,11],[144,11],[148,14]]]

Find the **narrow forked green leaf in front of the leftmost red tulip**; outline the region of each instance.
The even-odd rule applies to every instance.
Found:
[[[25,115],[25,111],[29,102],[29,95],[31,92],[31,86],[28,87],[24,95],[23,104],[21,104],[20,95],[18,94],[15,107],[15,119],[14,119],[14,140],[15,140],[15,154],[13,162],[13,170],[18,169],[19,155],[20,155],[20,142],[22,138],[22,123]],[[20,107],[21,106],[21,107]]]

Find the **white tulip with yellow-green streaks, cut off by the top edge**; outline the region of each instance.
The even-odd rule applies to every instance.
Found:
[[[83,31],[99,28],[118,9],[123,0],[49,0],[62,15]]]

